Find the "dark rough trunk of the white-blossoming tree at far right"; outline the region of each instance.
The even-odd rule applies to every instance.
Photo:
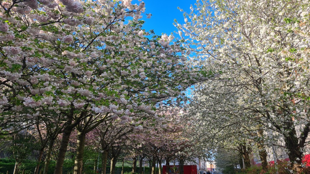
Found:
[[[289,134],[283,134],[286,148],[288,150],[287,155],[290,158],[291,167],[293,171],[299,172],[301,169],[301,159],[303,157],[302,152],[298,144],[298,138],[295,137],[296,130],[293,125],[294,123],[288,123],[288,128],[290,128]]]

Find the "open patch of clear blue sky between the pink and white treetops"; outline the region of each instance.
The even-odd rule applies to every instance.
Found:
[[[166,33],[170,35],[176,28],[173,26],[174,19],[179,23],[184,23],[184,11],[190,12],[189,7],[195,4],[196,0],[142,0],[145,2],[145,13],[151,13],[152,17],[146,19],[146,15],[142,18],[145,23],[143,28],[146,31],[154,30],[155,34],[161,35]],[[139,3],[138,0],[133,0],[133,4]],[[178,7],[183,9],[179,11]]]

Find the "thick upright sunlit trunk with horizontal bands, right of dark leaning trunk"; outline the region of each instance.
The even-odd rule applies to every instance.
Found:
[[[82,174],[85,137],[86,137],[86,134],[84,132],[78,132],[73,174]]]

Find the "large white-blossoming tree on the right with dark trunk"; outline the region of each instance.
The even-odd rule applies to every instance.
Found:
[[[265,133],[281,134],[291,167],[299,171],[310,125],[309,3],[212,0],[196,5],[184,14],[185,24],[175,25],[194,53],[193,64],[220,72],[213,83],[197,86],[197,106],[205,109],[205,118],[231,129],[239,117],[251,129],[261,125]]]

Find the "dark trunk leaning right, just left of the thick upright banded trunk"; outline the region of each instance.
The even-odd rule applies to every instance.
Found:
[[[70,121],[71,122],[71,121]],[[56,166],[54,170],[54,174],[62,174],[62,167],[64,166],[64,158],[66,156],[67,147],[70,139],[72,129],[66,127],[62,134],[62,139],[60,143],[59,153],[56,161]]]

